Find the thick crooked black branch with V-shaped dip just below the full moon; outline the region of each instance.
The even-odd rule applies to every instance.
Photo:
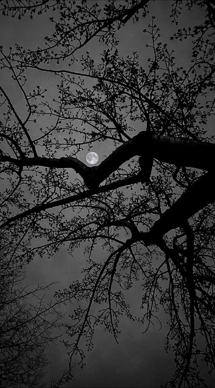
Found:
[[[1,156],[1,160],[10,161],[17,166],[73,168],[81,175],[86,186],[92,189],[99,186],[117,168],[134,156],[141,156],[142,175],[146,178],[144,176],[144,163],[146,170],[149,170],[148,163],[151,169],[152,158],[176,166],[210,170],[214,166],[214,154],[215,144],[213,143],[151,135],[146,131],[141,131],[132,139],[120,145],[99,166],[88,167],[79,159],[73,157],[58,159],[37,156],[21,160]]]

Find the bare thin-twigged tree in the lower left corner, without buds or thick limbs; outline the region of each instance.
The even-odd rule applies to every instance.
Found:
[[[5,247],[6,248],[6,247]],[[48,364],[47,347],[59,338],[62,298],[44,303],[51,286],[29,289],[23,286],[25,265],[12,259],[16,244],[1,249],[0,261],[0,385],[1,387],[38,387]],[[17,252],[16,252],[17,253]],[[11,258],[10,262],[8,258]],[[39,303],[38,303],[39,301]],[[53,386],[59,386],[60,381]]]

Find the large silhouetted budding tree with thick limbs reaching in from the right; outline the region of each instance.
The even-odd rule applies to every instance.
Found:
[[[30,17],[53,14],[56,8],[60,13],[50,17],[55,32],[46,36],[46,48],[1,48],[2,70],[10,71],[26,103],[19,114],[12,96],[0,87],[5,109],[1,174],[8,179],[2,245],[20,239],[22,253],[15,257],[27,255],[28,261],[38,254],[53,255],[62,244],[70,253],[86,246],[83,280],[56,292],[57,298],[77,303],[74,323],[66,326],[73,343],[64,341],[70,349],[68,378],[73,357],[79,354],[84,362],[81,338],[91,349],[98,323],[118,341],[119,316],[138,319],[123,290],[140,278],[144,317],[139,320],[149,327],[158,303],[169,314],[166,349],[175,353],[176,371],[166,386],[203,385],[198,359],[210,371],[215,359],[215,144],[206,128],[214,114],[213,2],[172,2],[175,25],[181,23],[184,7],[197,7],[205,15],[201,25],[178,29],[170,37],[192,42],[187,68],[177,66],[174,53],[160,42],[152,16],[143,31],[151,39],[147,71],[136,52],[120,57],[116,34],[131,21],[145,26],[151,1],[23,3],[3,1],[3,14],[21,19],[28,12]],[[99,60],[83,51],[91,42],[101,45]],[[27,79],[33,71],[60,79],[53,102],[43,102],[47,91],[41,86],[31,90]],[[110,142],[112,152],[88,167],[79,160],[80,152],[98,142]],[[41,244],[29,248],[34,239],[42,239]],[[96,244],[106,252],[100,262],[92,258]],[[95,306],[96,314],[91,313]]]

